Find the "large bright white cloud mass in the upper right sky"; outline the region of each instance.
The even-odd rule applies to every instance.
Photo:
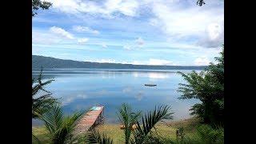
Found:
[[[181,43],[182,40],[194,38],[195,42],[190,42],[191,45],[207,46],[211,42],[210,46],[219,46],[224,36],[223,25],[220,25],[224,18],[223,6],[212,2],[207,3],[207,6],[187,3],[187,6],[182,6],[181,3],[154,2],[152,11],[155,18],[150,19],[150,24],[159,27],[172,42]],[[218,28],[215,27],[216,23]]]

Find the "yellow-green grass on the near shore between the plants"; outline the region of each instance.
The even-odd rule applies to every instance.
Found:
[[[175,139],[176,130],[178,127],[184,128],[186,136],[194,137],[196,127],[201,125],[197,118],[189,118],[180,120],[177,122],[158,123],[156,129],[158,133],[154,132],[154,135],[158,135],[162,138]],[[124,143],[124,134],[118,124],[104,124],[96,127],[100,133],[104,133],[110,138],[113,138],[114,143]],[[47,136],[46,128],[44,126],[32,127],[32,132],[36,135],[42,143],[50,143],[50,139]]]

